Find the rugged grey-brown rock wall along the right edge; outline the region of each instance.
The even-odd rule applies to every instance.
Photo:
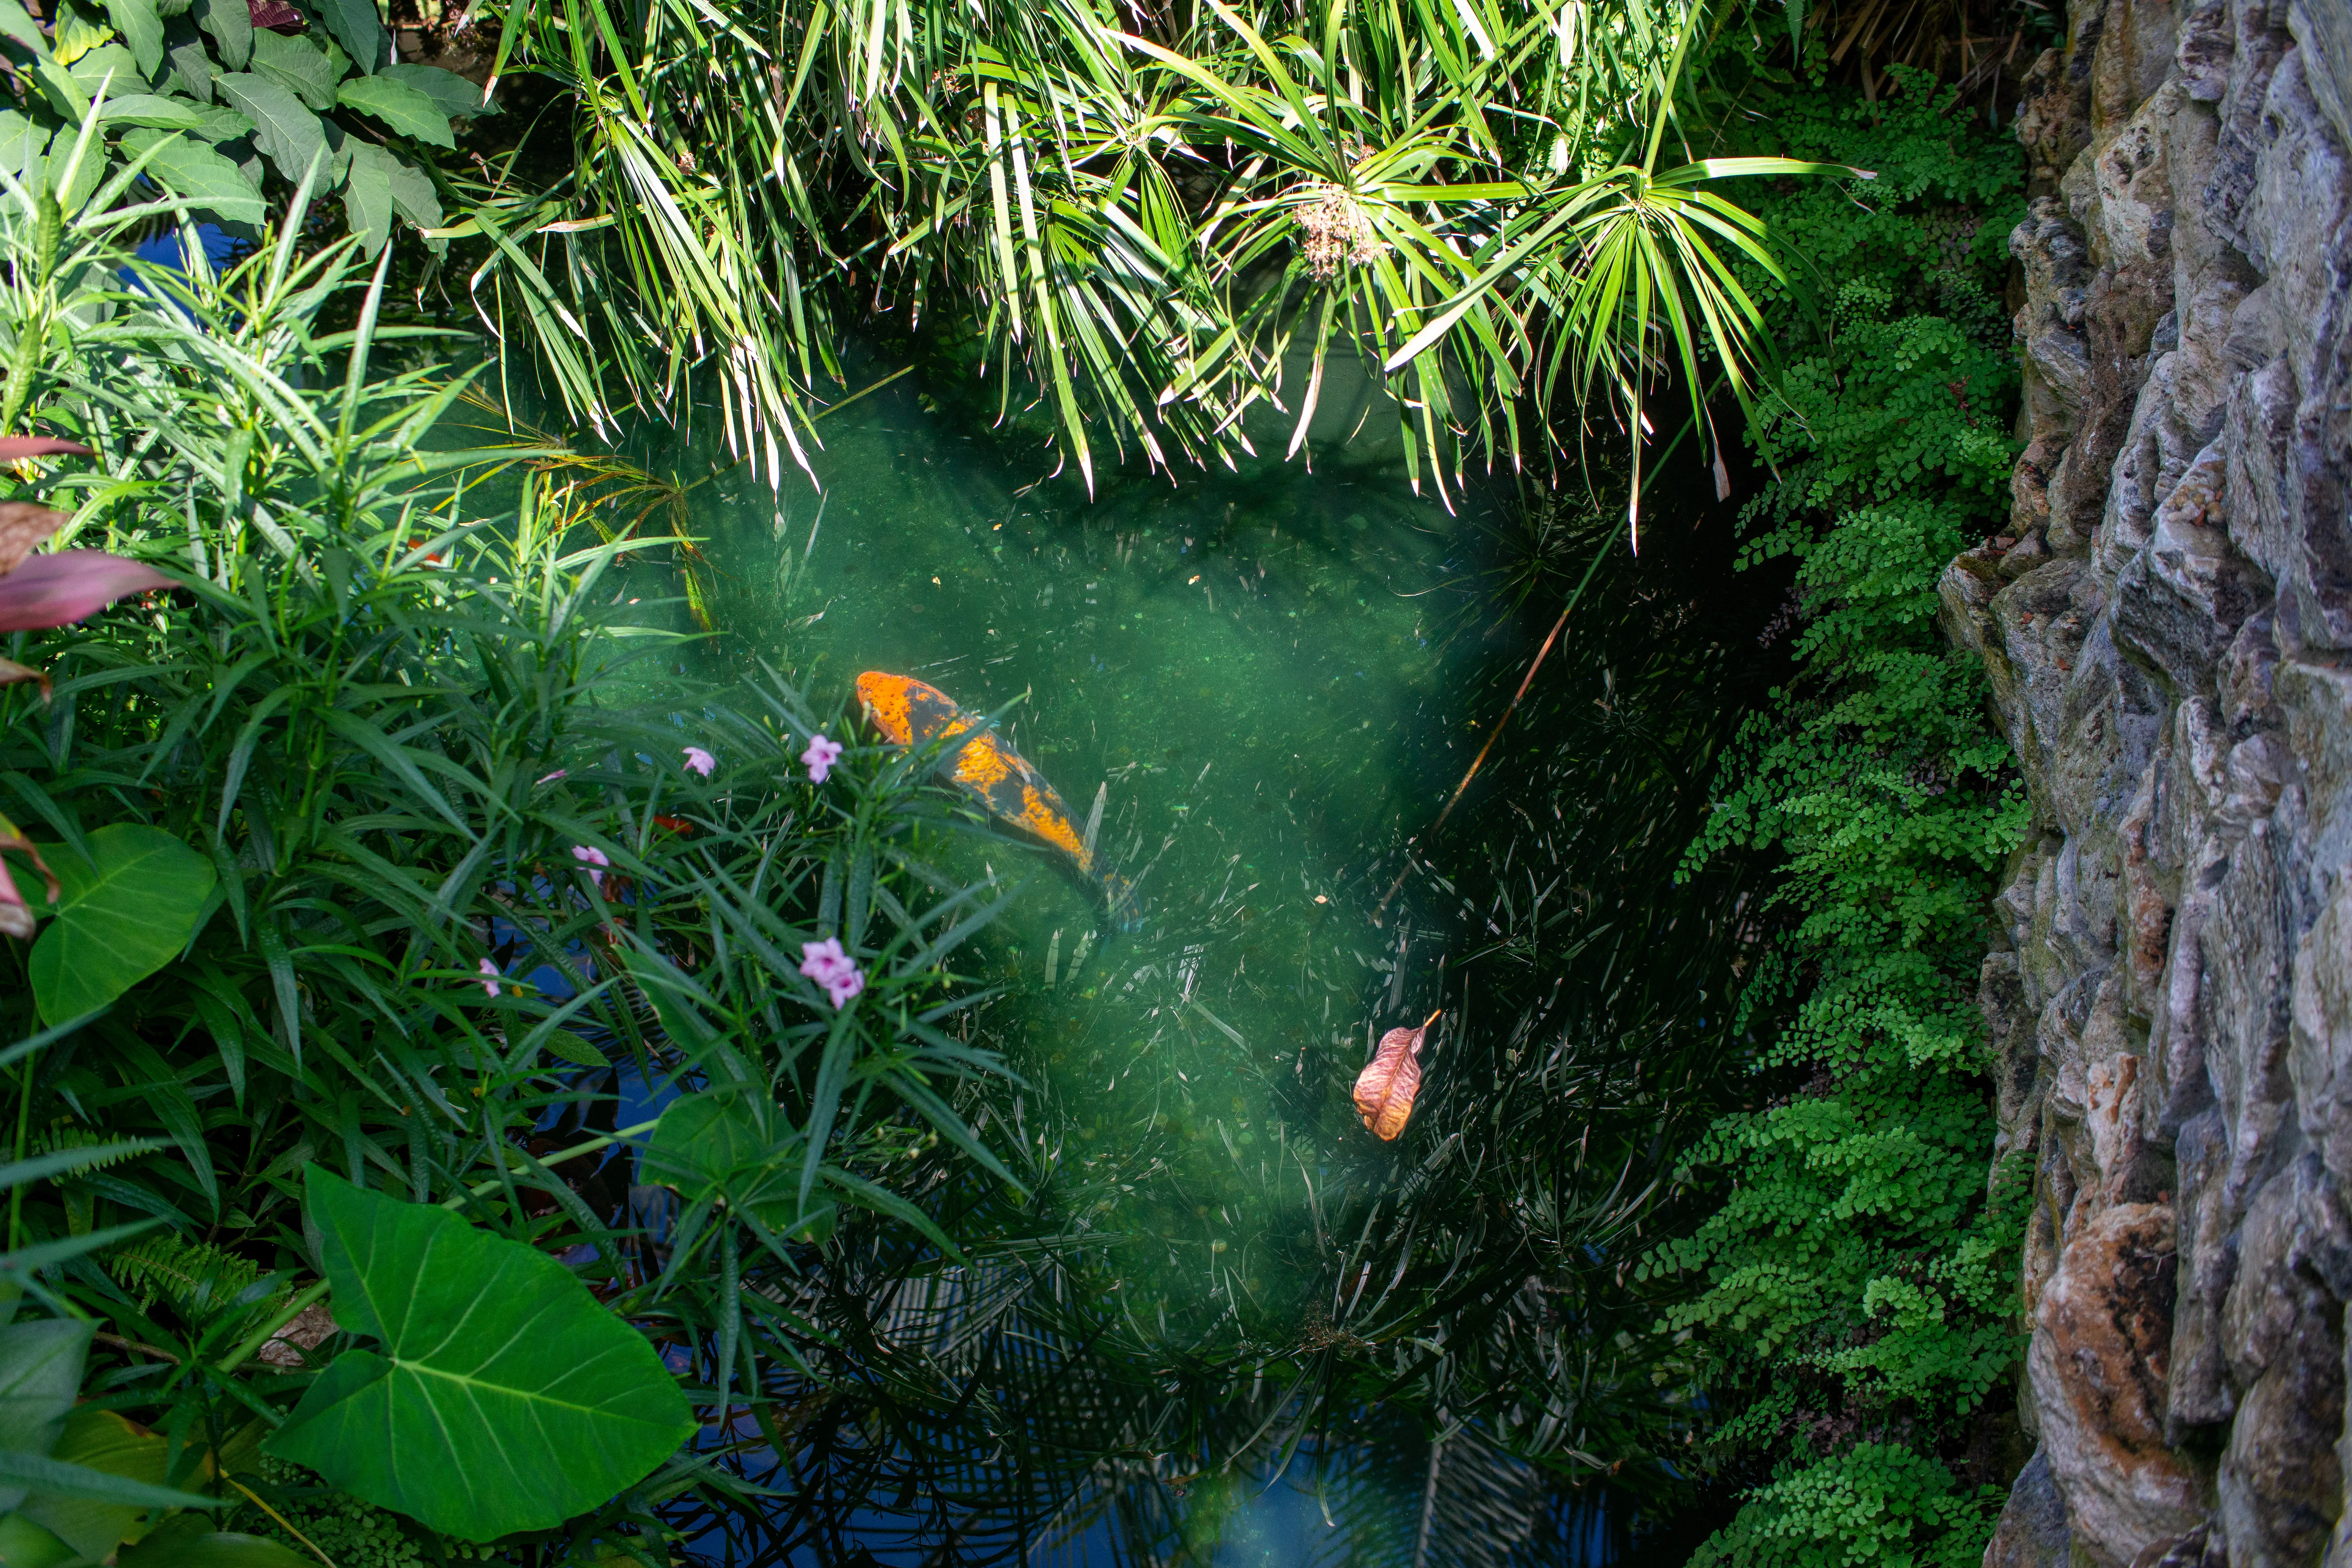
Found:
[[[1987,1563],[2352,1568],[2352,0],[2072,0],[2009,536],[1952,562],[2037,839],[1985,961],[2032,1175]]]

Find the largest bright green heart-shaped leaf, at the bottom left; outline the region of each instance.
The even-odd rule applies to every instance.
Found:
[[[694,1434],[644,1335],[572,1269],[445,1208],[308,1168],[308,1218],[346,1349],[268,1453],[445,1535],[550,1530]]]

